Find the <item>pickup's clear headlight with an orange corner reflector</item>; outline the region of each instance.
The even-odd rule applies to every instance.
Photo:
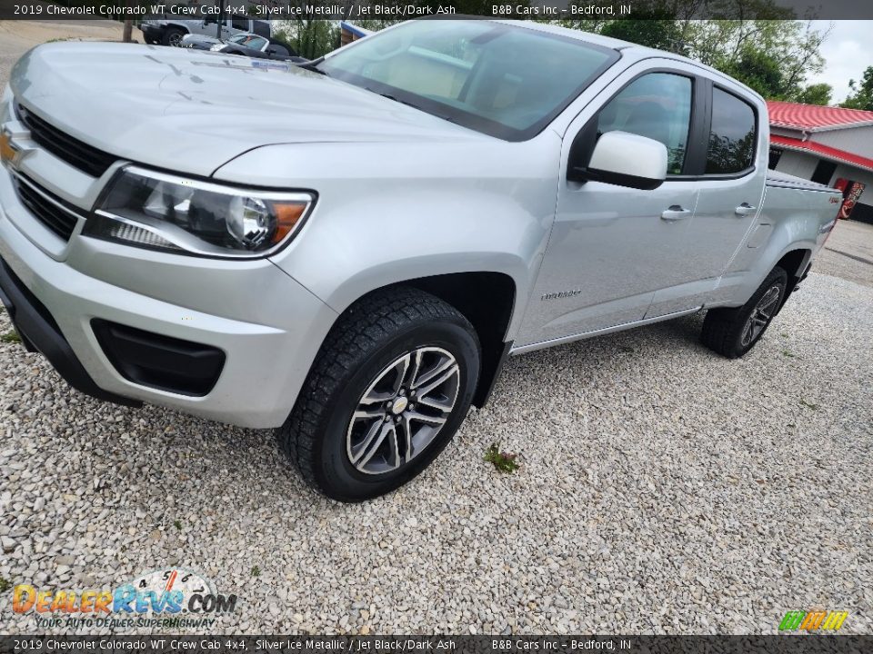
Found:
[[[127,166],[85,221],[85,236],[199,256],[265,256],[299,230],[315,196],[201,182]]]

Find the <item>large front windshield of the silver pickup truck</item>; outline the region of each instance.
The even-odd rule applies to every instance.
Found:
[[[426,20],[367,36],[318,69],[453,123],[523,141],[617,59],[615,50],[522,26]]]

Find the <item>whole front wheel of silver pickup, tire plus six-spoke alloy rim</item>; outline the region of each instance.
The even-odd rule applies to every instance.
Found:
[[[479,361],[476,332],[447,302],[412,288],[372,293],[328,334],[278,439],[328,497],[382,495],[454,436]]]

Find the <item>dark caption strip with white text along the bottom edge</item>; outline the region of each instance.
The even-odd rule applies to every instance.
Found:
[[[3,636],[0,652],[191,654],[861,654],[873,636]]]

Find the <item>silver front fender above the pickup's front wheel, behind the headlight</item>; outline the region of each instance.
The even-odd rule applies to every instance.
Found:
[[[500,272],[517,290],[507,331],[511,339],[553,220],[557,149],[549,161],[546,149],[530,142],[426,145],[268,146],[238,157],[216,176],[256,183],[246,175],[270,171],[276,179],[296,180],[295,188],[318,193],[303,229],[272,261],[336,312],[397,282]],[[446,162],[448,149],[466,155],[456,154],[447,170],[436,160]],[[306,152],[332,166],[319,172],[320,164],[306,164]],[[263,176],[258,180],[276,184]]]

